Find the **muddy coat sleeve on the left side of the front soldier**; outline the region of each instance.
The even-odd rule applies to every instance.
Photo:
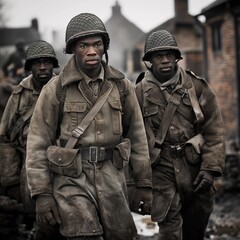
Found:
[[[47,84],[43,87],[36,103],[27,139],[26,172],[32,197],[41,193],[52,193],[46,151],[55,139],[58,111],[56,85]]]

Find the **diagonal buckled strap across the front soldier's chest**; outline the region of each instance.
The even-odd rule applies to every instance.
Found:
[[[69,138],[66,148],[74,148],[76,145],[78,139],[82,136],[82,134],[85,132],[87,127],[90,125],[94,117],[97,115],[99,110],[102,108],[104,102],[107,100],[110,92],[112,91],[112,87],[108,89],[94,104],[94,106],[91,108],[91,110],[88,112],[88,114],[83,118],[83,120],[80,122],[80,124],[77,126],[76,129],[72,131],[72,136]]]

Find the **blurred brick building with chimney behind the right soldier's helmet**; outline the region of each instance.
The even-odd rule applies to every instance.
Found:
[[[178,47],[181,50],[183,60],[179,64],[183,68],[191,69],[197,75],[203,75],[202,69],[202,29],[197,18],[188,12],[188,0],[174,0],[174,17],[153,28],[150,32],[143,35],[131,50],[132,55],[132,75],[136,72],[145,70],[142,63],[144,55],[144,44],[146,37],[157,30],[167,30],[174,35]],[[138,53],[138,54],[137,54]],[[130,55],[129,54],[129,55]],[[130,70],[126,70],[131,74]]]

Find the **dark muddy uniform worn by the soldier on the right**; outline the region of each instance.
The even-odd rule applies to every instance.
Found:
[[[192,79],[204,115],[201,122],[196,121],[189,98],[188,89],[192,84],[186,82],[187,75]],[[147,71],[136,89],[144,116],[152,160],[152,219],[159,223],[159,239],[181,239],[177,236],[181,236],[182,224],[184,239],[190,239],[188,232],[191,232],[192,236],[197,236],[194,239],[203,239],[208,218],[213,210],[215,189],[212,188],[204,194],[197,194],[193,192],[193,182],[200,170],[211,171],[215,176],[222,174],[224,166],[223,123],[216,97],[207,82],[180,68],[174,78],[175,80],[172,81],[174,84],[162,87],[154,75]],[[177,92],[181,95],[181,100],[168,125],[161,149],[159,149],[155,140],[159,136],[160,125],[164,124],[161,123],[167,105],[164,91],[171,95]],[[200,141],[195,141],[194,138],[198,137],[199,133],[204,136],[205,140],[201,149],[199,149]],[[190,139],[194,139],[195,146],[186,144]],[[172,222],[168,225],[170,220]],[[164,223],[166,224],[163,227]]]

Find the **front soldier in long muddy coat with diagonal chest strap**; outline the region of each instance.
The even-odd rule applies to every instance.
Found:
[[[151,207],[141,110],[132,83],[108,65],[109,41],[94,14],[70,20],[66,53],[73,56],[42,90],[29,128],[26,167],[38,221],[59,223],[67,239],[134,239],[124,175],[129,162],[135,209],[141,202],[142,214]]]

